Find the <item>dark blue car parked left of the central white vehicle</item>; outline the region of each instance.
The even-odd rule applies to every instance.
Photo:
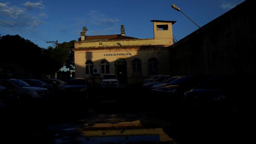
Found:
[[[87,98],[89,96],[90,85],[88,79],[75,78],[71,79],[62,88],[64,95],[73,98]]]

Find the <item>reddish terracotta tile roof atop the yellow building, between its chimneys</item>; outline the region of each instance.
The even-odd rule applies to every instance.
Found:
[[[85,40],[131,40],[131,39],[138,39],[138,38],[122,36],[121,34],[101,35],[101,36],[85,36]]]

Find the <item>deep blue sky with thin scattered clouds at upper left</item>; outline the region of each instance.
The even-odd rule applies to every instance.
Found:
[[[203,26],[243,1],[0,0],[0,34],[19,34],[40,47],[47,48],[51,44],[46,43],[46,40],[77,40],[85,21],[87,35],[120,34],[120,25],[125,25],[126,36],[153,38],[150,20],[175,20],[177,23],[173,25],[173,34],[180,40],[198,27],[181,12],[172,9],[172,3]],[[15,31],[16,28],[23,30],[23,33],[26,31],[17,25],[34,32],[34,37]]]

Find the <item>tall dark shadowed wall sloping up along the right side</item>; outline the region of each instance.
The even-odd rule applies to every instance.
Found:
[[[171,46],[177,74],[256,74],[255,0],[246,0]]]

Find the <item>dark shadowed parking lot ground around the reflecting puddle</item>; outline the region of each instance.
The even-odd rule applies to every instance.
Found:
[[[139,121],[137,127],[128,125],[122,129],[131,133],[139,133],[131,128],[151,130],[148,133],[153,133],[153,129],[159,130],[157,133],[162,130],[172,139],[172,142],[165,143],[237,143],[241,139],[240,130],[244,128],[241,117],[245,116],[240,113],[189,110],[169,99],[145,95],[140,88],[96,89],[89,99],[58,96],[26,107],[2,109],[0,126],[4,134],[0,143],[118,143],[113,139],[120,137],[108,137],[109,130],[116,130],[116,124],[120,126],[134,121]],[[89,138],[84,135],[85,130],[105,130],[100,131],[105,136]],[[151,137],[122,138],[120,141],[127,143],[138,142],[132,139],[163,143],[157,142],[153,134]],[[7,141],[3,143],[5,139]]]

